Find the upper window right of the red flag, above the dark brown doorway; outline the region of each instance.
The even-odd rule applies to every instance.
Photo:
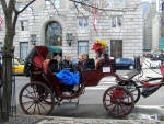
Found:
[[[112,18],[112,27],[120,27],[122,23],[121,16],[113,16]]]

